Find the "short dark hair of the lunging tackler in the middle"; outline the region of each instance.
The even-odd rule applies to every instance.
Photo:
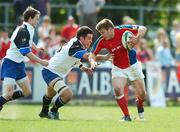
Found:
[[[77,30],[76,37],[80,39],[80,37],[86,37],[88,34],[93,34],[93,30],[90,29],[88,26],[82,26]]]

